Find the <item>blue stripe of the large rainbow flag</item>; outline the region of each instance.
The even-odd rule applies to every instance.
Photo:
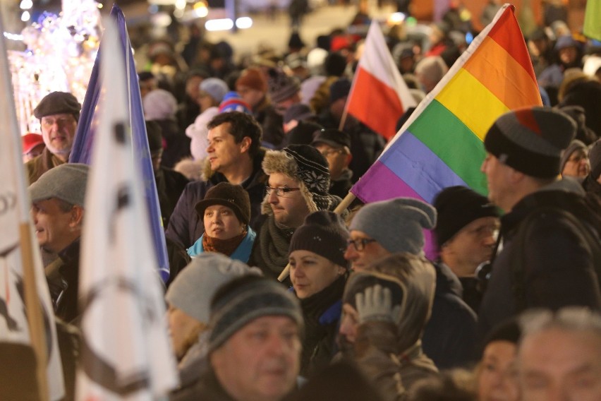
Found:
[[[437,193],[447,186],[468,186],[440,160],[440,157],[409,131],[403,133],[379,161],[405,181],[427,203],[432,203]]]

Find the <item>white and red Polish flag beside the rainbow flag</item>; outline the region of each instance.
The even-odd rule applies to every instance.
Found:
[[[365,39],[346,112],[386,139],[396,133],[396,121],[415,100],[394,64],[377,22]]]

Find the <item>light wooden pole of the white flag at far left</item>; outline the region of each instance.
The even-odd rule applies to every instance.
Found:
[[[40,400],[48,401],[48,377],[47,377],[47,347],[46,334],[44,333],[44,318],[42,317],[42,302],[37,294],[37,282],[35,280],[35,269],[31,243],[31,227],[28,222],[19,225],[19,237],[21,244],[21,257],[23,260],[23,291],[25,292],[25,309],[29,323],[29,335],[32,347],[35,351],[37,364],[37,385],[40,389]]]

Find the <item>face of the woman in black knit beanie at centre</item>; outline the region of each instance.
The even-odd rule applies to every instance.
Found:
[[[299,299],[317,294],[328,287],[345,269],[311,251],[297,249],[289,256],[290,280]]]

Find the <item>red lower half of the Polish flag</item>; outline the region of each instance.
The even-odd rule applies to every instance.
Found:
[[[346,110],[387,139],[396,133],[396,121],[404,112],[396,91],[363,68],[356,71],[355,85],[348,97]]]

